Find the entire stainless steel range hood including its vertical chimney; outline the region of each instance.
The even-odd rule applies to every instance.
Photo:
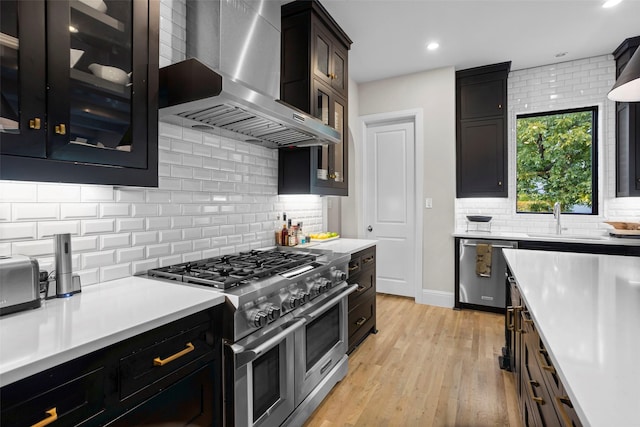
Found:
[[[191,58],[160,69],[160,120],[269,148],[338,143],[338,131],[276,100],[279,5],[187,0]]]

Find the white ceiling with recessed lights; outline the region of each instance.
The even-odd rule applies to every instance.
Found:
[[[353,40],[358,83],[512,61],[519,70],[611,53],[640,35],[640,0],[321,0]],[[430,41],[440,43],[427,51]],[[556,54],[567,52],[561,58]]]

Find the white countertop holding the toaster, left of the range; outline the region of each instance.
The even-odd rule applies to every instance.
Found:
[[[222,302],[210,290],[127,277],[3,316],[0,386]]]

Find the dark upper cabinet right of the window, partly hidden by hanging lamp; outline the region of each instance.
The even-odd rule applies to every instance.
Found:
[[[629,38],[613,52],[616,78],[639,45]],[[640,196],[640,102],[616,102],[616,196]]]

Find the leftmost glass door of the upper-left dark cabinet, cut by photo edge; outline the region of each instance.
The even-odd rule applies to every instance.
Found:
[[[0,150],[44,157],[44,2],[0,2]]]

